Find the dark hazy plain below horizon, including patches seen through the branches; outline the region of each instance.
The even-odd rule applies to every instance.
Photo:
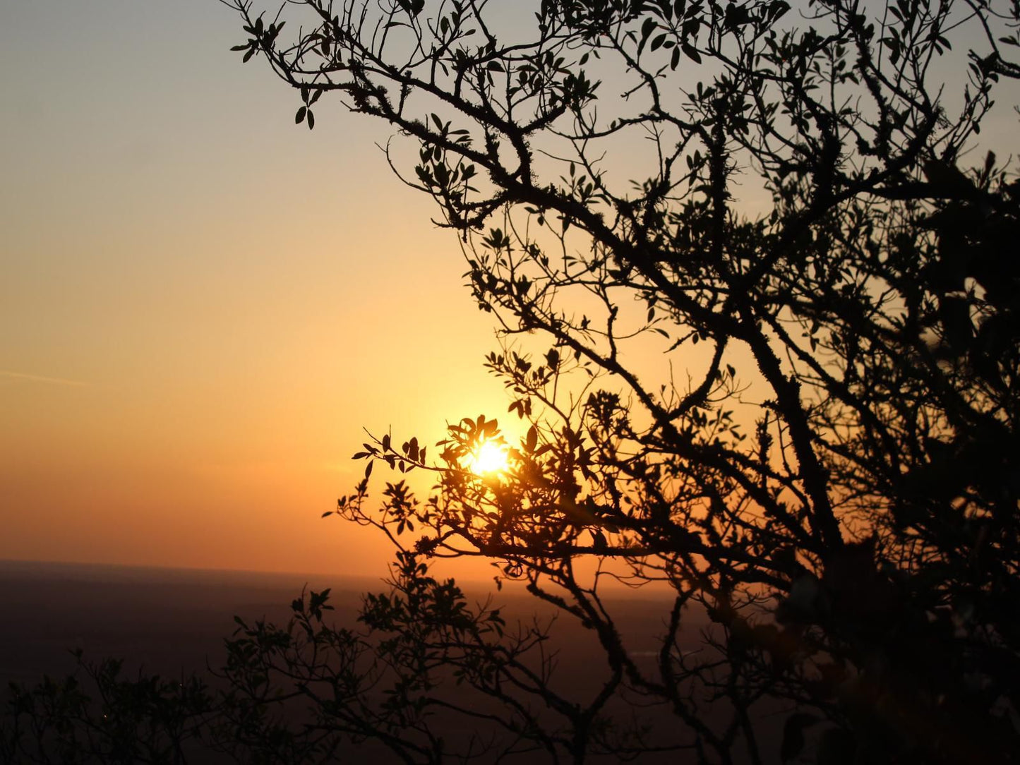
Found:
[[[290,604],[303,588],[332,589],[330,618],[337,626],[355,626],[363,593],[386,590],[378,578],[367,576],[0,561],[0,690],[11,681],[31,684],[44,675],[62,677],[74,671],[74,649],[81,649],[86,660],[122,659],[129,673],[143,670],[163,677],[207,673],[225,659],[223,642],[237,628],[235,615],[249,623],[266,619],[286,624],[292,614]],[[472,603],[492,590],[483,583],[467,583],[464,589]],[[495,593],[494,599],[508,624],[528,621],[536,613],[542,619],[552,615],[549,607],[543,609],[536,599],[511,588]],[[621,590],[608,602],[638,661],[656,662],[669,601],[645,591]],[[699,650],[707,623],[703,614],[691,615],[682,631],[686,650]],[[591,698],[606,677],[605,655],[594,633],[561,617],[552,635],[550,649],[557,652],[553,687]],[[617,712],[635,714],[666,737],[677,729],[676,719],[661,707]],[[460,728],[462,723],[454,725]],[[372,761],[387,759],[385,752],[372,753]],[[687,758],[673,753],[639,760],[686,762]]]

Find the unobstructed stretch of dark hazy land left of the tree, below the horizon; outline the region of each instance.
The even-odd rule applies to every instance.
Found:
[[[353,621],[365,577],[0,561],[0,683],[65,674],[85,657],[115,657],[160,674],[218,666],[234,615],[287,621],[308,584],[333,585],[337,620]]]

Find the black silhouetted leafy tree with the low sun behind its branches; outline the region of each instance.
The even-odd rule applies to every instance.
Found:
[[[1016,2],[225,2],[297,122],[325,95],[397,131],[526,428],[491,475],[486,417],[365,444],[336,513],[392,541],[393,588],[357,632],[324,595],[241,624],[236,741],[1015,761],[1020,184],[978,134],[1020,74]],[[373,506],[380,461],[436,486]],[[428,573],[471,556],[590,630],[593,688],[557,683],[548,624]],[[654,651],[610,581],[671,593]]]

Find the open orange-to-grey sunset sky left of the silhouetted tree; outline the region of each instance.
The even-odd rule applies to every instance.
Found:
[[[297,128],[244,37],[212,0],[0,7],[0,559],[381,572],[319,517],[362,426],[506,411],[387,126]]]

